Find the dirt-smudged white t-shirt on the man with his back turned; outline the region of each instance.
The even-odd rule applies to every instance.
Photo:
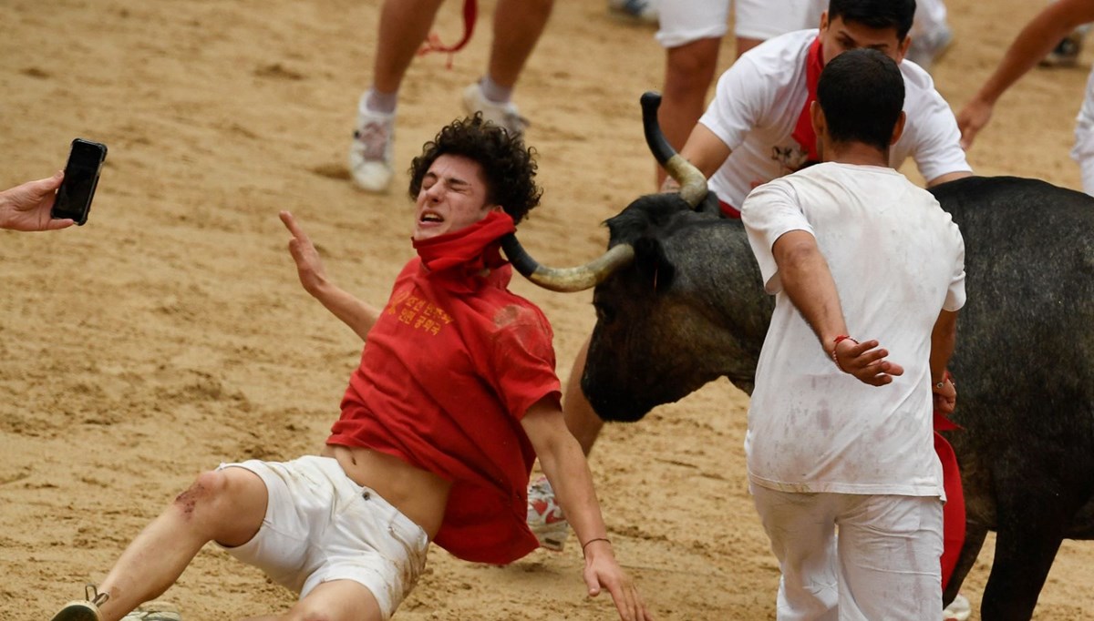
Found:
[[[742,218],[776,295],[748,409],[752,482],[944,497],[929,356],[939,313],[965,303],[965,247],[950,214],[892,168],[825,163],[760,186]],[[839,371],[782,291],[771,247],[790,231],[816,238],[851,337],[877,339],[904,366],[892,384]]]

